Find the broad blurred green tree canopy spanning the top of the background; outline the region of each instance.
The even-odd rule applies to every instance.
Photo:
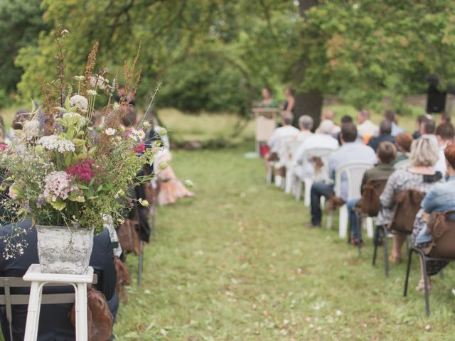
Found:
[[[292,85],[304,102],[319,97],[302,107],[314,117],[326,94],[355,107],[390,97],[401,107],[403,95],[425,90],[427,75],[445,86],[455,74],[454,1],[43,0],[41,10],[46,26],[70,32],[69,74],[82,72],[95,40],[99,66],[111,72],[141,45],[139,94],[163,80],[159,104],[188,111],[245,112],[264,85]],[[23,96],[38,96],[38,75],[55,75],[55,52],[45,29],[21,48]]]

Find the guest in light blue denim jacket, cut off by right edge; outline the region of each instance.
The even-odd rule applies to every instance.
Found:
[[[455,144],[447,146],[444,149],[444,155],[447,166],[446,173],[449,175],[447,183],[437,183],[427,192],[422,201],[422,210],[417,213],[412,230],[412,243],[422,249],[432,244],[432,235],[427,231],[427,216],[433,212],[455,210]],[[423,267],[421,269],[420,281],[416,289],[423,291],[424,276],[437,274],[446,264],[446,261],[429,261],[427,263],[427,274],[423,273]]]

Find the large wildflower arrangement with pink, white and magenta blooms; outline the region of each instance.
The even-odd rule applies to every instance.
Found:
[[[92,73],[97,47],[96,43],[92,48],[85,75],[69,81],[62,71],[62,53],[58,82],[42,84],[44,106],[34,102],[28,121],[22,122],[23,129],[17,132],[18,141],[0,148],[0,168],[5,172],[1,188],[9,188],[1,200],[9,212],[4,221],[32,219],[35,224],[101,232],[103,217],[110,215],[122,222],[125,207],[131,205],[129,193],[149,180],[138,174],[153,163],[159,144],[146,148],[143,127],[149,122],[141,122],[129,132],[120,124],[129,102],[112,100],[117,73],[112,82],[106,69],[99,75]],[[135,92],[139,82],[136,60],[132,67],[124,67],[129,92]],[[98,92],[108,98],[102,109],[105,121],[92,128]],[[18,229],[6,238],[4,257],[23,253],[26,245]]]

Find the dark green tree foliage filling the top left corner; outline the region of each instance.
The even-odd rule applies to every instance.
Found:
[[[41,0],[0,1],[0,89],[4,92],[15,90],[21,80],[22,70],[14,66],[18,50],[36,45],[38,33],[46,29],[40,3]]]

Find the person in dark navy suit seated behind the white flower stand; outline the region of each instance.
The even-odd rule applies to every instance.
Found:
[[[0,251],[4,249],[3,236],[11,233],[11,224],[0,227]],[[24,236],[28,247],[21,256],[14,259],[4,259],[0,255],[0,276],[22,277],[31,264],[38,264],[38,251],[36,248],[36,229],[31,228],[31,221],[18,223],[21,229],[27,229],[28,233]],[[105,294],[107,301],[111,300],[115,293],[116,272],[114,266],[114,254],[109,232],[105,229],[93,239],[92,256],[90,256],[90,266],[93,267],[98,275],[95,288]],[[12,293],[30,292],[30,288],[14,288]],[[74,292],[72,287],[53,286],[44,287],[43,293],[70,293]],[[110,306],[110,305],[109,305]],[[13,305],[13,339],[23,340],[26,327],[27,305]],[[40,323],[38,327],[38,341],[70,341],[75,340],[75,328],[71,324],[68,313],[72,304],[45,304],[41,305]],[[2,331],[5,340],[9,340],[9,327],[4,315],[4,309],[0,310],[2,321]]]

